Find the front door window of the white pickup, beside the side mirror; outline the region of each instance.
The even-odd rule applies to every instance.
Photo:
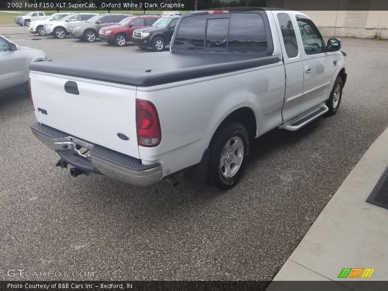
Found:
[[[303,47],[307,54],[323,52],[324,44],[321,33],[310,19],[296,18],[300,34],[302,35]]]

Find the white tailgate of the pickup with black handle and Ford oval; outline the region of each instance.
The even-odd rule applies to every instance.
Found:
[[[36,71],[30,72],[30,78],[35,116],[40,123],[140,158],[136,87]],[[70,85],[70,93],[65,91],[65,83]],[[75,87],[78,92],[72,91]],[[122,139],[125,135],[129,140]]]

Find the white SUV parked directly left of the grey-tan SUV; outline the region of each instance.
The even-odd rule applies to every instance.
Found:
[[[45,34],[53,35],[55,38],[65,38],[70,32],[70,26],[74,22],[86,21],[96,16],[96,13],[77,13],[65,16],[58,21],[49,21],[45,23]]]

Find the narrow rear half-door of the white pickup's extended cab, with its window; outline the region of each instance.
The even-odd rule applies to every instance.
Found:
[[[303,91],[303,58],[301,44],[295,35],[298,29],[296,19],[283,12],[274,12],[280,45],[283,52],[286,70],[286,92],[283,106],[283,122],[287,122],[300,114],[300,102]]]

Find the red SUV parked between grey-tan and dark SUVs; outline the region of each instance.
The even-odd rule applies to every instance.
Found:
[[[132,33],[135,29],[149,27],[159,18],[160,16],[151,15],[129,16],[116,25],[101,28],[98,32],[98,37],[100,40],[106,41],[109,44],[123,47],[128,40],[132,40]]]

